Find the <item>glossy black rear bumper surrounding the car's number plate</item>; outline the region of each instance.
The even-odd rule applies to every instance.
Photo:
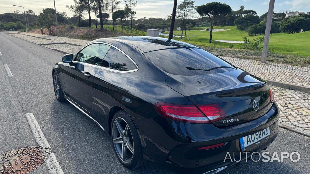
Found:
[[[238,162],[225,160],[227,152],[235,159],[246,159],[239,138],[270,128],[267,141],[250,149],[250,152],[265,149],[277,137],[279,109],[274,103],[262,117],[228,127],[213,124],[189,124],[173,121],[162,116],[153,119],[134,119],[141,137],[144,159],[159,163],[174,172],[215,173]],[[225,143],[224,146],[197,150],[200,147]],[[247,154],[250,156],[251,153]]]

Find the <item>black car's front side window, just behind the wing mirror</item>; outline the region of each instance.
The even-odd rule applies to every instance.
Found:
[[[82,51],[77,54],[74,60],[100,66],[105,54],[109,49],[109,45],[91,44],[82,49]]]

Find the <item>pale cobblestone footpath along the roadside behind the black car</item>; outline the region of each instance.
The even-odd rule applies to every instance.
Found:
[[[8,34],[37,44],[66,42],[77,45],[86,45],[89,42],[89,40],[47,36],[36,33],[10,32]],[[62,50],[67,53],[77,53],[78,50],[82,48],[82,46],[77,45],[51,44],[43,46],[50,49]],[[310,87],[310,67],[291,66],[271,62],[261,63],[255,60],[234,57],[222,58],[263,79]],[[271,88],[275,95],[277,104],[281,109],[280,124],[293,131],[301,132],[310,136],[310,94],[281,87],[272,86]]]

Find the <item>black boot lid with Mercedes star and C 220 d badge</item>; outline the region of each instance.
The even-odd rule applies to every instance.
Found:
[[[240,69],[191,76],[167,74],[166,83],[198,108],[203,104],[222,108],[225,116],[212,121],[216,126],[251,121],[266,114],[272,106],[267,83]]]

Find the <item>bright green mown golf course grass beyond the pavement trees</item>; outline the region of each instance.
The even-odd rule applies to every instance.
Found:
[[[237,40],[243,41],[242,37],[248,37],[250,40],[259,36],[249,36],[245,30],[237,30],[236,26],[215,26],[214,29],[229,29],[223,32],[212,32],[212,42],[216,46],[228,48],[231,44],[217,42],[214,40]],[[181,31],[174,31],[175,35],[181,35]],[[183,32],[184,35],[184,32]],[[184,40],[194,45],[211,46],[209,44],[210,33],[208,31],[191,30],[189,31],[189,40]],[[175,38],[178,39],[178,38]],[[233,44],[238,48],[239,44]],[[269,40],[269,48],[276,53],[285,53],[310,57],[310,31],[302,33],[277,33],[272,34]]]

